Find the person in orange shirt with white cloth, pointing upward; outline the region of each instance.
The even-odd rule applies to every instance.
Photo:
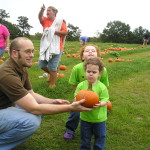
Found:
[[[39,12],[39,21],[43,27],[43,36],[40,44],[39,66],[45,72],[50,74],[48,82],[50,88],[56,87],[57,68],[64,49],[65,37],[67,35],[66,22],[57,18],[58,10],[49,6],[46,11],[47,17],[44,17],[45,5]]]

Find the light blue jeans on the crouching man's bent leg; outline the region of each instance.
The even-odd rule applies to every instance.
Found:
[[[11,150],[36,132],[41,116],[24,109],[8,107],[0,109],[0,150]]]

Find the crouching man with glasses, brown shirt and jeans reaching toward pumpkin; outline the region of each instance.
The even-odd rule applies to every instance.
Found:
[[[29,138],[39,128],[41,115],[91,110],[81,106],[85,100],[69,104],[32,90],[26,67],[32,66],[33,51],[29,39],[18,37],[10,45],[10,58],[0,65],[0,150]]]

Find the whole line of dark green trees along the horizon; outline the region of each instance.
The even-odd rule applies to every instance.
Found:
[[[0,9],[0,19],[2,24],[4,24],[10,31],[10,38],[14,39],[18,36],[26,36],[34,40],[40,40],[42,33],[35,33],[30,35],[29,31],[33,28],[28,23],[28,18],[26,16],[19,16],[17,21],[18,24],[13,24],[7,19],[10,18],[9,13],[5,10]],[[68,24],[68,35],[66,37],[67,41],[78,41],[81,36],[81,30],[79,27],[72,24]],[[95,37],[90,37],[91,42],[108,42],[108,43],[142,43],[143,36],[148,34],[150,36],[150,31],[139,26],[131,31],[129,24],[125,24],[121,21],[110,21],[107,23],[106,27],[100,33],[97,31]]]

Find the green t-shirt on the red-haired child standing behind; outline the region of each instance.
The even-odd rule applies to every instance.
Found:
[[[70,78],[69,78],[69,83],[71,85],[78,85],[80,82],[86,80],[86,74],[84,70],[84,62],[81,62],[77,65],[75,65],[72,69]],[[106,87],[109,86],[109,81],[108,81],[108,73],[107,69],[104,67],[103,73],[100,76],[99,80],[105,84]]]

